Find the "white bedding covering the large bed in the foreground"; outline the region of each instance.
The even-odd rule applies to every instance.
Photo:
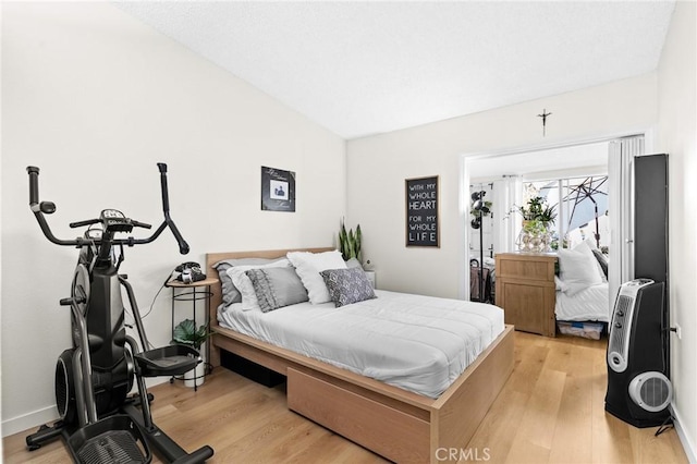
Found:
[[[504,329],[497,306],[387,291],[335,308],[218,308],[221,326],[429,398],[438,398]]]

